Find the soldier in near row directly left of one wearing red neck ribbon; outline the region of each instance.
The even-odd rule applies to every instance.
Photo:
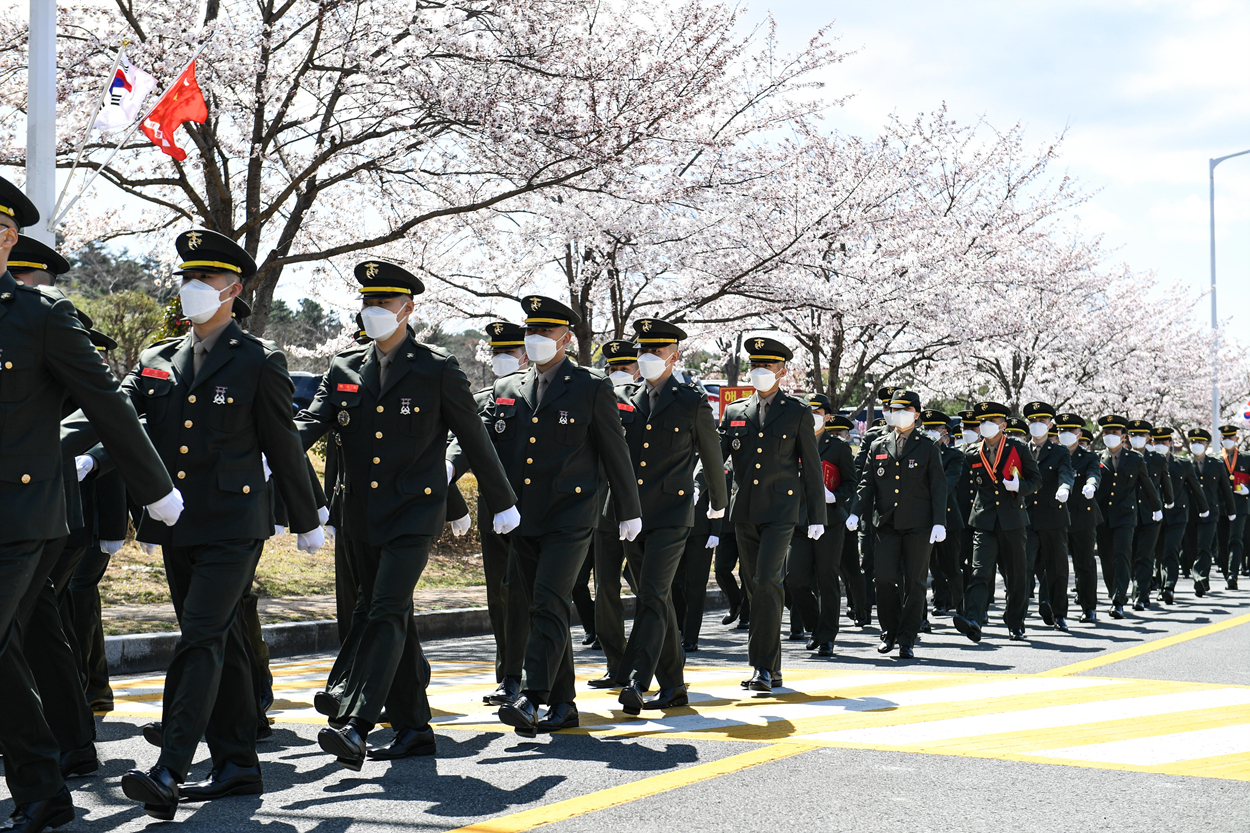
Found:
[[[898,644],[899,657],[910,659],[925,614],[932,545],[946,539],[946,473],[938,445],[915,430],[920,396],[895,389],[889,406],[894,432],[869,449],[846,528],[855,529],[860,514],[872,518],[878,653]]]

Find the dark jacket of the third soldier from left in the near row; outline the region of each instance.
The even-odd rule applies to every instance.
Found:
[[[396,350],[385,384],[372,343],[338,354],[312,404],[295,418],[305,448],[332,432],[341,450],[342,532],[374,547],[442,532],[449,429],[488,505],[502,512],[516,503],[456,358],[411,334]]]

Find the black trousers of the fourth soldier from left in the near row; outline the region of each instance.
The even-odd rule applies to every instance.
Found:
[[[572,585],[590,550],[592,527],[512,535],[521,580],[530,590],[530,633],[521,690],[535,704],[572,703]]]

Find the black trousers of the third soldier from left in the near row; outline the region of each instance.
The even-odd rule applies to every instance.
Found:
[[[348,539],[359,579],[348,642],[330,669],[339,719],[372,728],[386,707],[396,729],[430,724],[430,667],[412,619],[412,589],[430,558],[434,535],[401,535],[374,547]]]

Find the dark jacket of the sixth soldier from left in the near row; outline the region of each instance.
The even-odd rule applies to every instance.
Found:
[[[720,418],[720,448],[738,484],[730,523],[798,524],[806,502],[808,524],[824,525],[825,482],[808,403],[778,390],[765,424],[759,394],[730,403]]]

